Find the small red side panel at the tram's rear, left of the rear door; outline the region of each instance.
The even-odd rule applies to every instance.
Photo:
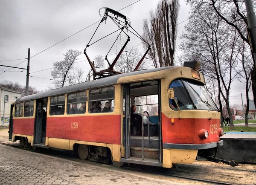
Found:
[[[23,135],[34,135],[35,119],[24,118],[24,119],[13,119],[13,133]]]

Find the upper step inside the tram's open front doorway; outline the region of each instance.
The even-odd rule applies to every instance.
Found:
[[[143,143],[144,147],[147,148],[159,148],[159,140],[158,137],[149,137],[149,145],[148,145],[148,137],[144,137]],[[142,136],[131,136],[131,147],[142,147]]]

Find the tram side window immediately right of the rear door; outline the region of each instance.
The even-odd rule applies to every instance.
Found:
[[[63,115],[65,111],[65,95],[50,99],[50,115]]]

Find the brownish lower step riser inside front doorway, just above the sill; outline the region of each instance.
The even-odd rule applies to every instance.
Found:
[[[143,153],[146,159],[159,159],[158,149],[144,147]],[[131,147],[131,156],[142,158],[142,147]]]

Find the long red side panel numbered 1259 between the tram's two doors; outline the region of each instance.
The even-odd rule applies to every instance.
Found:
[[[120,115],[50,117],[47,118],[46,136],[120,145],[120,120]],[[78,128],[72,128],[72,122],[78,123]]]

